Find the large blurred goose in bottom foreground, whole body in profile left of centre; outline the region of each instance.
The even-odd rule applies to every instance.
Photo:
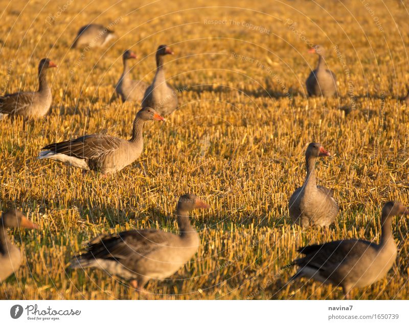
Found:
[[[193,257],[200,239],[190,224],[189,212],[209,208],[196,195],[185,194],[176,206],[179,235],[157,229],[100,235],[86,245],[83,254],[71,260],[70,267],[100,268],[143,290],[150,279],[170,277]]]

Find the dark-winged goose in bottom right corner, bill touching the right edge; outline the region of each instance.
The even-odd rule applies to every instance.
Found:
[[[297,273],[291,281],[304,277],[342,287],[346,298],[352,288],[369,286],[382,279],[391,269],[397,255],[392,233],[392,218],[409,214],[398,202],[388,202],[382,208],[379,244],[362,239],[345,239],[298,250],[305,257],[292,262]]]

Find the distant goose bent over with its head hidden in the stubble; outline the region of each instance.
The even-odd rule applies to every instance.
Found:
[[[104,46],[112,38],[115,38],[115,32],[100,24],[91,23],[80,28],[71,48]]]

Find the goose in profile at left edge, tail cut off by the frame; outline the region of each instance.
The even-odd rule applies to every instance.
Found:
[[[38,91],[18,91],[0,96],[0,114],[21,115],[25,119],[39,118],[48,113],[53,101],[47,83],[47,69],[57,65],[50,59],[41,59],[38,64]]]

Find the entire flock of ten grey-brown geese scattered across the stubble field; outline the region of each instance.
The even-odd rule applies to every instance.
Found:
[[[103,46],[115,34],[98,24],[82,27],[72,48]],[[335,74],[327,68],[325,50],[315,46],[311,53],[319,55],[315,70],[306,80],[310,96],[333,96]],[[84,135],[74,140],[52,143],[42,148],[39,159],[52,159],[85,170],[99,171],[103,176],[114,173],[138,159],[143,151],[143,126],[150,120],[163,121],[163,116],[178,107],[176,92],[166,83],[164,57],[172,55],[169,46],[160,45],[156,51],[156,73],[150,85],[130,78],[128,60],[136,58],[127,50],[123,53],[123,73],[116,85],[122,101],[141,102],[135,115],[131,138],[124,140],[109,135]],[[11,117],[33,119],[48,113],[52,95],[46,71],[57,65],[48,58],[38,65],[39,88],[35,92],[18,91],[0,98],[0,113]],[[329,227],[338,214],[338,204],[332,191],[316,184],[315,163],[330,153],[320,143],[310,143],[305,152],[307,175],[304,184],[289,199],[289,215],[301,227]],[[131,230],[116,234],[100,234],[90,240],[84,250],[71,260],[71,268],[100,268],[116,274],[140,291],[150,279],[166,279],[187,263],[197,252],[199,236],[192,227],[189,213],[210,206],[193,194],[180,196],[175,215],[179,235],[156,229]],[[299,249],[303,257],[291,262],[298,266],[288,283],[304,277],[324,284],[342,287],[346,298],[352,288],[368,286],[391,269],[397,255],[392,233],[392,218],[408,214],[398,202],[386,203],[381,212],[379,244],[361,239],[348,239],[305,246]],[[5,281],[20,265],[21,252],[7,235],[7,228],[36,229],[24,214],[16,209],[2,213],[0,218],[0,282]],[[287,284],[288,284],[287,283]]]

